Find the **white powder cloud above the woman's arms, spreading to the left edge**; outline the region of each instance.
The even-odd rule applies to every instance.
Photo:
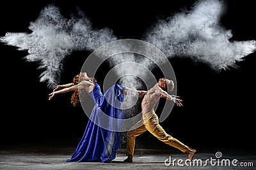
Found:
[[[45,7],[29,29],[31,33],[7,32],[0,40],[28,50],[25,59],[40,62],[39,68],[44,69],[40,81],[47,81],[48,87],[58,83],[63,60],[73,50],[93,51],[116,39],[111,29],[94,30],[83,13],[79,12],[79,18],[67,19],[53,5]]]

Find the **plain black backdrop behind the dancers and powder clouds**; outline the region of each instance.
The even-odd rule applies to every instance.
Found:
[[[118,38],[140,39],[157,18],[165,18],[189,7],[195,1],[6,1],[1,2],[0,36],[6,32],[30,32],[29,23],[35,21],[42,8],[56,4],[69,17],[77,6],[86,13],[95,28],[109,27]],[[175,3],[174,3],[175,2]],[[256,39],[252,1],[227,1],[227,13],[221,18],[226,29],[232,30],[232,40]],[[72,106],[72,92],[48,101],[46,83],[39,81],[36,62],[26,62],[28,52],[1,43],[1,145],[70,145],[76,146],[83,136],[88,117],[81,106]],[[73,52],[64,63],[60,83],[69,83],[78,73],[84,57],[90,52]],[[238,68],[220,73],[200,62],[172,59],[177,94],[183,99],[182,108],[175,106],[161,123],[166,132],[180,139],[198,152],[255,152],[255,58],[252,53]],[[108,66],[97,72],[99,84]],[[154,72],[157,78],[160,74]],[[254,78],[253,78],[254,77]],[[164,100],[161,99],[164,103]],[[160,116],[160,115],[159,115]],[[122,147],[125,147],[125,138]],[[137,148],[168,148],[145,132],[137,138]]]

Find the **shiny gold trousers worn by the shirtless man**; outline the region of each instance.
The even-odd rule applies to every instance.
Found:
[[[151,134],[156,136],[157,139],[163,141],[163,143],[178,148],[182,152],[186,152],[186,150],[188,150],[188,146],[184,145],[178,139],[173,138],[170,134],[167,134],[164,131],[163,127],[159,125],[158,117],[154,111],[143,114],[141,121],[143,125],[137,129],[132,129],[127,132],[126,155],[133,155],[135,138],[145,131],[149,131]]]

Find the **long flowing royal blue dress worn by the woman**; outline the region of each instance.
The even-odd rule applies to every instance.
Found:
[[[94,84],[95,87],[89,96],[93,98],[95,106],[83,138],[67,162],[111,162],[115,159],[116,150],[120,147],[120,132],[109,130],[113,126],[113,121],[102,118],[102,113],[110,118],[124,118],[121,103],[124,101],[122,91],[125,87],[115,84],[102,94],[100,86],[97,83]],[[105,127],[108,125],[109,128],[102,128],[101,124]]]

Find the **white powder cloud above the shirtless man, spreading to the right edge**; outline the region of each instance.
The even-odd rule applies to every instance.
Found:
[[[217,71],[236,66],[256,46],[255,41],[229,40],[232,32],[220,24],[226,5],[218,0],[197,1],[191,11],[159,20],[145,32],[144,40],[156,45],[169,59],[191,57]]]

